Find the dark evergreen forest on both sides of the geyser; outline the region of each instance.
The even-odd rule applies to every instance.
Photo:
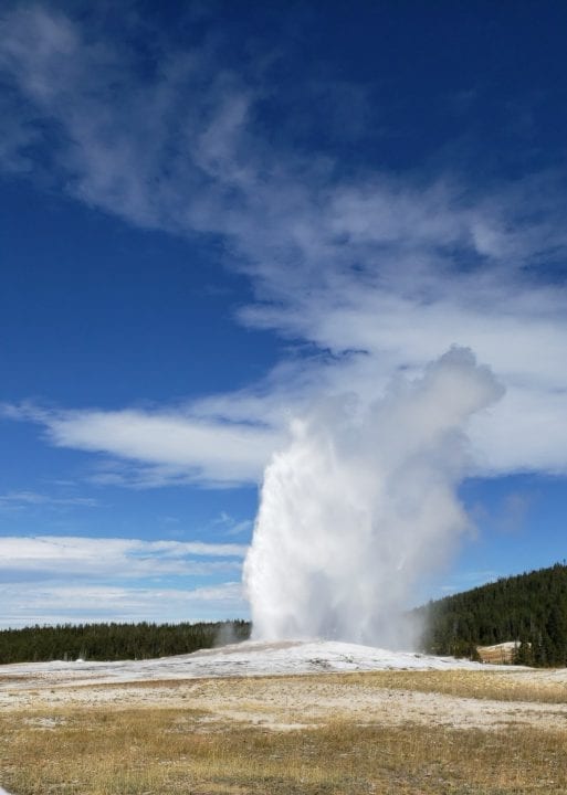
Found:
[[[476,658],[477,646],[518,643],[515,662],[567,666],[567,564],[501,579],[413,611],[422,650]],[[48,660],[148,659],[250,637],[245,621],[80,624],[0,630],[0,665]]]

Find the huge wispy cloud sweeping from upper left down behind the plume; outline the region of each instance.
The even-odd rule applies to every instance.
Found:
[[[474,471],[567,471],[565,163],[483,190],[455,163],[434,178],[348,171],[270,145],[256,123],[262,71],[252,82],[220,68],[210,41],[158,41],[148,71],[135,47],[43,6],[17,7],[2,25],[3,168],[140,227],[222,240],[225,264],[254,288],[240,322],[318,351],[182,409],[12,416],[54,445],[119,460],[99,474],[107,483],[258,483],[290,416],[318,395],[372,401],[461,344],[506,388],[471,424]]]

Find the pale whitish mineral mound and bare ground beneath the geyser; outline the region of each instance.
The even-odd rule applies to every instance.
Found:
[[[484,671],[493,683],[514,680],[544,688],[567,683],[567,669],[486,666],[333,642],[250,642],[154,660],[0,666],[0,709],[182,707],[202,710],[203,731],[227,720],[294,730],[328,722],[329,716],[360,723],[416,722],[485,730],[511,723],[566,725],[567,704],[460,698],[402,686],[380,687],[364,678],[326,676],[451,669]],[[306,674],[312,676],[298,676]]]

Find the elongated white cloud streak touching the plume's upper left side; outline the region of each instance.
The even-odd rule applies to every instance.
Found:
[[[98,483],[159,486],[199,483],[240,486],[260,483],[279,431],[258,421],[227,422],[175,411],[44,411],[3,406],[6,416],[32,420],[59,447],[117,456],[134,463],[118,470],[103,463]],[[0,499],[1,505],[1,499]]]

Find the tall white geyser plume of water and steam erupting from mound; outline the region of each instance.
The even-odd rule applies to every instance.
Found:
[[[292,423],[264,475],[244,564],[254,636],[399,646],[399,615],[469,521],[465,427],[502,395],[469,349],[363,409],[333,399]]]

